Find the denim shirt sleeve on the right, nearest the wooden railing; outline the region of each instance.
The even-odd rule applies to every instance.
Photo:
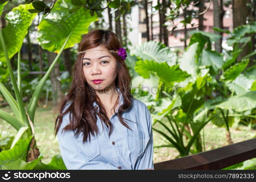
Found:
[[[148,124],[148,132],[149,132],[149,140],[147,142],[146,145],[146,149],[142,155],[142,157],[140,157],[138,159],[138,161],[136,161],[135,163],[135,170],[144,170],[144,169],[154,169],[154,163],[153,163],[153,132],[152,132],[152,119],[151,119],[151,115],[150,112],[148,110],[148,114],[147,114],[147,124]]]

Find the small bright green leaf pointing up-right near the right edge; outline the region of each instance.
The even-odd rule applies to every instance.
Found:
[[[242,60],[227,69],[222,75],[221,80],[234,80],[244,70],[249,63],[249,59]]]

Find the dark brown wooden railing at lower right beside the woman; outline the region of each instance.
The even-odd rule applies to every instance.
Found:
[[[256,157],[256,138],[154,164],[155,170],[223,169]]]

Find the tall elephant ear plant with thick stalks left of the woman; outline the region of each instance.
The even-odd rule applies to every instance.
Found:
[[[5,4],[7,2],[0,4],[0,14]],[[0,110],[0,118],[10,123],[18,131],[18,134],[12,142],[11,149],[0,153],[0,169],[66,169],[60,155],[56,155],[48,165],[40,162],[43,156],[39,153],[34,137],[34,118],[42,88],[61,53],[65,48],[73,47],[78,43],[82,35],[88,32],[91,22],[98,20],[96,13],[92,16],[89,10],[82,7],[69,13],[69,10],[74,7],[71,0],[59,0],[51,12],[42,17],[38,25],[39,44],[48,51],[56,52],[57,56],[37,85],[27,109],[22,100],[20,49],[28,32],[27,29],[37,13],[28,11],[28,9],[33,9],[33,3],[21,4],[5,16],[8,25],[0,29],[0,62],[8,68],[15,98],[0,82],[0,92],[14,113],[11,115]],[[10,59],[17,52],[18,80],[15,79],[10,63]]]

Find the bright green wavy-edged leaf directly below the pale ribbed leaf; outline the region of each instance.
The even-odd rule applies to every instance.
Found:
[[[181,82],[189,76],[178,65],[168,66],[167,63],[157,63],[148,60],[136,62],[135,71],[144,78],[149,78],[149,73],[154,72],[163,83]]]

